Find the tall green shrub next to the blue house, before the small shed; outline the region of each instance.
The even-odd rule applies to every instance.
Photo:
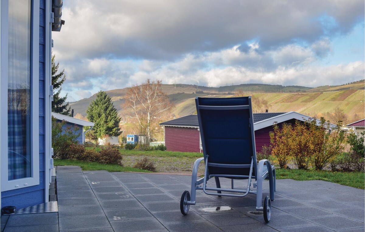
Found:
[[[52,117],[52,147],[53,158],[72,159],[73,153],[69,151],[72,144],[78,144],[77,138],[80,133],[77,132],[78,127],[74,129],[71,126],[62,128],[67,122],[58,122],[55,117]]]

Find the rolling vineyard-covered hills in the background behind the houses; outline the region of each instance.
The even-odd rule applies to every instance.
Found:
[[[268,103],[269,112],[296,111],[308,116],[320,116],[333,112],[336,107],[348,114],[349,120],[360,120],[364,116],[364,80],[339,86],[320,86],[308,88],[303,86],[281,86],[265,84],[242,84],[222,87],[206,87],[186,84],[162,85],[162,91],[168,94],[174,104],[174,117],[181,117],[195,112],[195,97],[231,97],[234,92],[242,89],[247,96],[264,98]],[[127,88],[107,91],[112,101],[123,117],[123,96]],[[75,114],[86,115],[89,103],[95,99],[95,94],[89,98],[71,103]]]

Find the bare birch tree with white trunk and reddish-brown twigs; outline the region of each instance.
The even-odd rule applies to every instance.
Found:
[[[162,81],[147,79],[141,85],[134,85],[124,96],[126,116],[136,119],[139,130],[146,133],[150,140],[156,124],[171,112],[172,105],[161,90]]]

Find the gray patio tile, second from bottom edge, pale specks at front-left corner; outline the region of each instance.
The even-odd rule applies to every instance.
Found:
[[[153,218],[145,208],[104,210],[109,221]]]

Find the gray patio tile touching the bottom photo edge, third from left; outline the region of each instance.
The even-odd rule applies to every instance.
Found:
[[[166,228],[156,219],[111,221],[110,224],[112,225],[114,231],[128,231],[128,232],[166,231]]]

